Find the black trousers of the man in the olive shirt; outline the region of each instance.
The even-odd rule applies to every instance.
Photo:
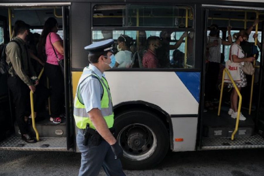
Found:
[[[19,77],[8,77],[7,84],[13,94],[19,130],[22,135],[27,134],[29,130],[25,116],[30,115],[30,89]]]

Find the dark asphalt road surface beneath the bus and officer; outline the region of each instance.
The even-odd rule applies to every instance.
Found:
[[[0,150],[0,176],[78,175],[80,153]],[[263,176],[264,149],[168,152],[150,170],[124,170],[127,176]],[[101,170],[100,176],[106,175]]]

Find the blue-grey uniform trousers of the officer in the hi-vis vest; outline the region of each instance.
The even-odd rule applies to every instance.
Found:
[[[84,146],[83,133],[78,131],[76,142],[80,152],[82,153],[81,167],[79,176],[96,176],[99,174],[101,167],[107,175],[111,176],[125,176],[120,159],[114,159],[114,153],[111,150],[109,143],[102,140],[98,146]]]

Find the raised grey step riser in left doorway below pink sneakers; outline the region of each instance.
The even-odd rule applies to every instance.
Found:
[[[36,128],[39,133],[39,137],[47,137],[47,138],[54,138],[54,137],[66,137],[66,119],[62,118],[62,123],[54,124],[49,119],[44,119],[43,121],[36,122]],[[35,131],[30,125],[30,132],[35,134]],[[20,137],[21,133],[18,128],[18,125],[15,123],[15,134],[16,136]]]

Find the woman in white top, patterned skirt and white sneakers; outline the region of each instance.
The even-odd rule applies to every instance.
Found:
[[[232,58],[233,62],[236,63],[240,63],[239,64],[239,72],[240,72],[240,77],[241,77],[241,82],[238,83],[236,82],[236,86],[238,88],[238,90],[241,90],[241,87],[246,87],[247,85],[247,79],[246,76],[242,70],[242,65],[244,65],[244,62],[249,61],[249,62],[253,62],[255,60],[254,57],[246,57],[245,58],[245,54],[244,51],[242,50],[240,44],[243,43],[244,39],[243,39],[243,35],[241,35],[241,33],[235,33],[234,34],[234,38],[235,38],[235,43],[233,43],[230,47],[230,57]],[[229,58],[229,59],[231,59]],[[232,83],[228,84],[228,87],[234,87]],[[230,101],[231,101],[231,106],[230,109],[228,111],[228,114],[231,115],[232,118],[236,118],[237,117],[237,103],[238,103],[238,94],[235,90],[235,88],[232,89],[232,93],[230,96]],[[239,120],[246,120],[246,117],[243,116],[243,114],[240,112],[240,116],[239,116]]]

